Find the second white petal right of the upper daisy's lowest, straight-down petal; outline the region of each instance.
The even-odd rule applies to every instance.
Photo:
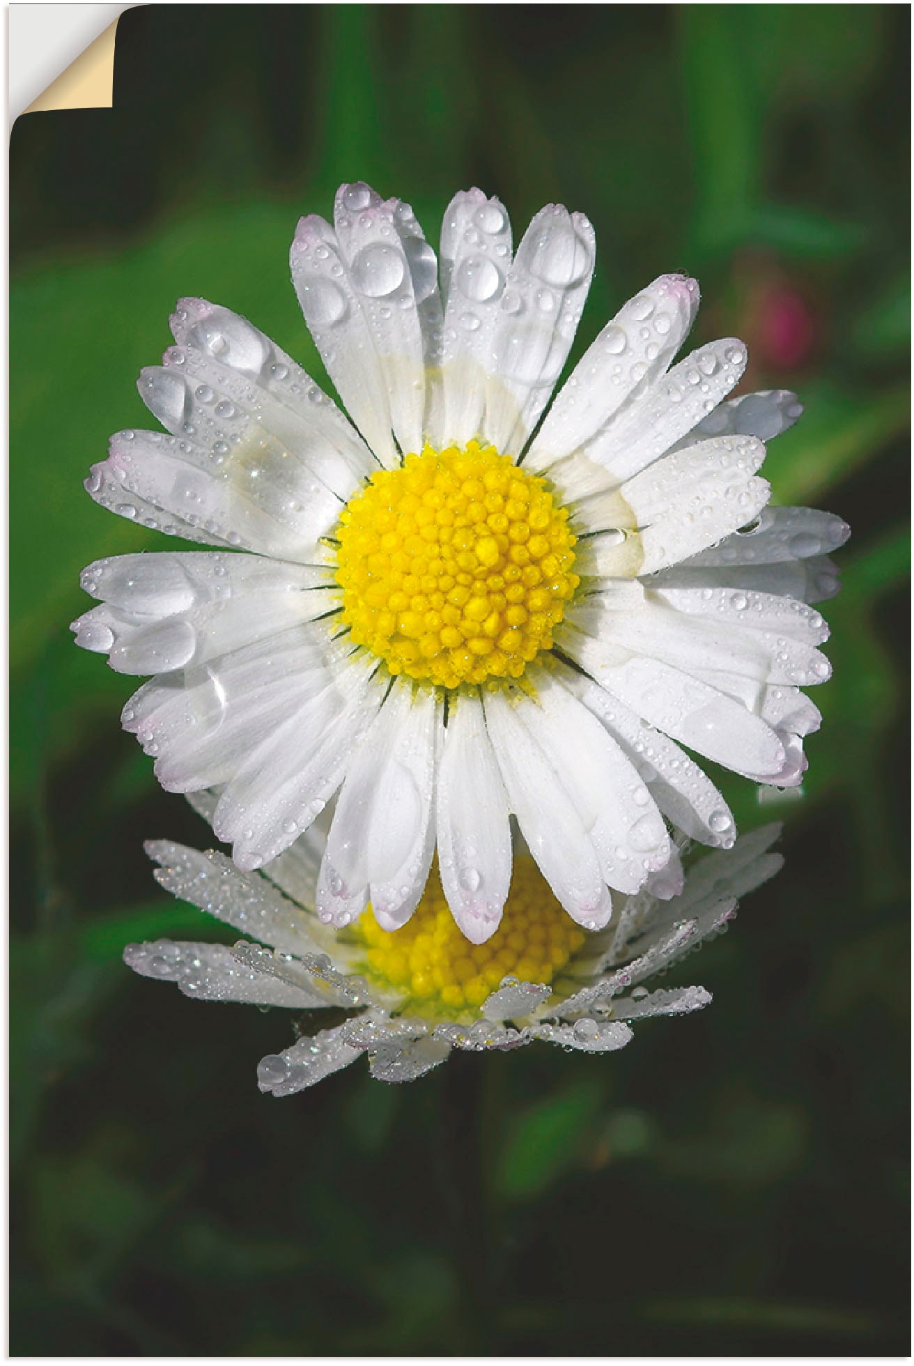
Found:
[[[571,671],[562,671],[562,680],[566,673]],[[527,724],[536,725],[538,743],[562,773],[604,881],[637,892],[669,859],[667,826],[631,761],[560,679],[545,671],[531,679],[538,713]]]

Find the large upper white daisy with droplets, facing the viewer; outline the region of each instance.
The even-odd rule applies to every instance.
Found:
[[[594,265],[582,214],[458,194],[440,261],[408,205],[343,186],[302,219],[292,280],[351,422],[250,322],[184,299],[139,392],[168,428],[122,432],[86,488],[214,546],[83,574],[75,624],[154,678],[123,724],[169,791],[220,787],[240,869],[339,791],[317,910],[403,925],[433,852],[463,933],[495,933],[514,813],[589,929],[675,852],[667,821],[735,826],[687,746],[797,784],[829,665],[824,553],[847,527],[766,508],[781,391],[724,402],[746,350],[671,362],[698,306],[667,275],[627,303],[544,411]],[[542,422],[540,421],[541,418]],[[249,553],[235,553],[249,552]],[[665,818],[665,820],[664,820]],[[672,889],[672,884],[671,884]]]

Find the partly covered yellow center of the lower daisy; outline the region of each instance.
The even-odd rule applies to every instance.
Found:
[[[508,975],[549,984],[585,941],[529,856],[515,858],[501,923],[485,944],[460,933],[437,867],[403,929],[383,930],[369,906],[357,933],[366,945],[368,977],[400,992],[422,1015],[477,1015]]]

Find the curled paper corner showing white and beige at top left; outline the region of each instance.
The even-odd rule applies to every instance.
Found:
[[[109,109],[124,4],[10,7],[10,119],[49,109]]]

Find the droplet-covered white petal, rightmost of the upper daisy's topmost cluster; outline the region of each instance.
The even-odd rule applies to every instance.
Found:
[[[482,436],[518,455],[562,374],[590,288],[590,223],[548,205],[525,232],[501,294],[492,337]]]

